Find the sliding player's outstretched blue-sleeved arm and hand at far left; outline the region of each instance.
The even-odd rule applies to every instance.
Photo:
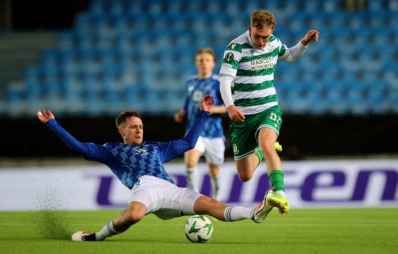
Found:
[[[72,150],[75,150],[84,155],[86,160],[89,161],[106,161],[108,156],[111,155],[110,151],[104,146],[82,143],[77,141],[71,134],[69,134],[64,128],[62,128],[55,120],[54,115],[50,110],[43,112],[40,110],[36,111],[37,118],[44,124],[46,124],[62,141]]]

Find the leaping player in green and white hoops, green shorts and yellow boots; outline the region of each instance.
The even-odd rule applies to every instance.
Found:
[[[276,19],[269,11],[254,12],[248,30],[232,40],[224,52],[220,91],[231,118],[230,132],[239,178],[248,181],[264,159],[274,187],[266,203],[289,212],[282,163],[275,142],[282,124],[282,113],[274,86],[278,60],[293,63],[304,53],[319,32],[309,30],[292,48],[273,35]],[[275,147],[274,147],[275,146]]]

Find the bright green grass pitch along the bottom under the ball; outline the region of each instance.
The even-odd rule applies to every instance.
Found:
[[[221,222],[209,217],[209,242],[184,234],[188,218],[144,217],[104,242],[72,242],[76,231],[98,231],[120,211],[0,212],[3,253],[398,253],[398,208],[273,210],[266,221]]]

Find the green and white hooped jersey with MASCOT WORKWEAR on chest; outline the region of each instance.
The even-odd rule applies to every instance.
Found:
[[[234,78],[232,99],[243,114],[256,114],[278,105],[274,72],[278,59],[284,60],[290,50],[274,35],[264,49],[255,49],[249,31],[232,40],[224,52],[220,76]]]

